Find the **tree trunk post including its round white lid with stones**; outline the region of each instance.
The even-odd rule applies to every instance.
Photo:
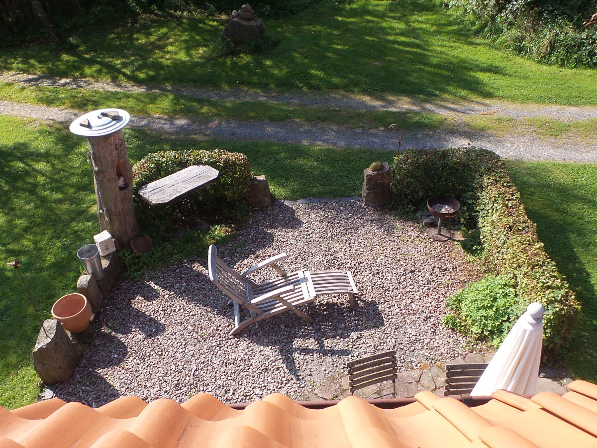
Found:
[[[70,131],[87,136],[100,231],[110,232],[119,249],[131,247],[130,241],[140,233],[133,205],[133,169],[122,134],[129,117],[126,111],[101,109],[70,124]]]

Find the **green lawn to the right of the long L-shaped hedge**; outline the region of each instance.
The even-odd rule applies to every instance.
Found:
[[[508,162],[538,235],[583,306],[564,364],[597,381],[597,165]]]

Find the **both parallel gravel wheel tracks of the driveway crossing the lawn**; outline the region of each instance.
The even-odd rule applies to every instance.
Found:
[[[170,91],[213,99],[263,100],[301,105],[334,106],[346,109],[432,112],[452,116],[491,112],[494,115],[514,118],[547,116],[564,121],[589,119],[597,116],[597,108],[590,107],[515,105],[494,102],[422,103],[403,97],[367,97],[344,93],[278,95],[272,92],[263,93],[245,90],[217,91],[110,84],[88,79],[55,79],[15,73],[0,75],[0,81],[21,82],[26,85],[79,87],[112,91]],[[0,114],[38,118],[66,124],[81,115],[81,111],[0,101]],[[177,135],[192,135],[198,139],[272,140],[305,145],[336,146],[338,148],[376,148],[386,151],[396,151],[398,148],[398,134],[386,129],[355,130],[347,126],[322,125],[300,121],[272,122],[133,116],[130,126],[150,128]],[[453,131],[411,130],[405,132],[402,139],[402,149],[447,148],[468,145],[487,148],[501,155],[501,157],[515,160],[597,162],[597,145],[572,139],[540,139],[536,136],[521,134],[506,134],[503,137],[496,137],[491,133],[479,133],[466,129]]]

